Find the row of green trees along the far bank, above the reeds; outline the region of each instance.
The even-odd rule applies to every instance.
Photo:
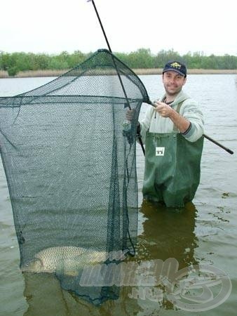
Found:
[[[28,70],[67,70],[79,65],[93,53],[63,51],[58,55],[46,53],[6,53],[0,51],[0,70],[8,72],[9,76],[15,76],[18,72]],[[140,48],[131,53],[114,53],[133,69],[163,68],[168,60],[177,59],[187,64],[189,69],[213,69],[213,70],[236,70],[237,56],[234,55],[204,55],[201,52],[180,55],[176,51],[159,51],[151,53],[148,48]]]

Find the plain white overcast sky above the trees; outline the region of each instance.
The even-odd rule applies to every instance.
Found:
[[[111,50],[237,56],[236,0],[95,0]],[[92,2],[1,0],[0,51],[107,48]]]

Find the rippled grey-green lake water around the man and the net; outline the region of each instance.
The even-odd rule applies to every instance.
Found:
[[[160,76],[140,78],[151,100],[161,96],[163,86]],[[0,96],[29,91],[51,79],[0,79]],[[94,307],[63,291],[53,277],[46,277],[39,288],[39,283],[23,278],[19,269],[19,249],[11,202],[4,170],[0,165],[0,315],[236,315],[236,75],[189,75],[184,91],[201,105],[205,117],[205,134],[229,147],[234,154],[205,140],[201,183],[194,199],[195,209],[172,213],[165,209],[157,211],[154,206],[143,204],[139,216],[139,251],[142,260],[148,263],[175,258],[179,270],[190,265],[200,265],[205,266],[205,273],[196,270],[194,277],[189,275],[189,279],[184,278],[189,291],[180,290],[176,303],[170,302],[172,299],[167,291],[165,293],[164,290],[158,297],[154,288],[149,288],[152,296],[142,286],[140,289],[122,287],[118,300],[107,301],[100,307]],[[146,107],[142,105],[140,117],[144,116]],[[137,146],[140,204],[143,171],[144,156]],[[204,285],[201,285],[201,281]],[[165,280],[162,284],[165,287]],[[193,291],[196,291],[195,299],[191,296]],[[193,304],[194,312],[189,310],[188,304]]]

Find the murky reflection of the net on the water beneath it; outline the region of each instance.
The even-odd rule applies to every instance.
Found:
[[[100,306],[75,296],[60,287],[53,275],[25,274],[25,291],[28,309],[25,316],[41,315],[137,315],[133,314],[138,307],[136,301],[128,298],[128,289],[121,287],[117,300],[109,300]]]

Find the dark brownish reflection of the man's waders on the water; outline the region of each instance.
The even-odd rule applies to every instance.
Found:
[[[140,244],[147,249],[145,258],[176,258],[180,268],[197,264],[194,259],[194,248],[197,239],[194,233],[196,208],[188,203],[183,209],[166,208],[163,205],[143,201],[144,231]]]

